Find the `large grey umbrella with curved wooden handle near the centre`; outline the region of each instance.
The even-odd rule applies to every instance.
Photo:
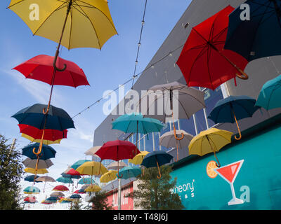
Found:
[[[155,94],[155,92],[161,92],[161,94],[157,94],[157,97],[154,98],[155,101],[148,105],[147,116],[157,118],[164,123],[168,122],[168,120],[172,120],[175,139],[183,139],[183,132],[181,133],[181,137],[178,137],[176,134],[175,119],[189,119],[197,111],[204,109],[206,107],[204,102],[204,92],[178,82],[155,85],[151,87],[150,90],[152,90],[152,92],[148,92],[148,97],[150,97],[150,94]],[[164,105],[166,105],[164,113],[157,112],[155,115],[150,115],[150,108],[155,108],[155,105],[162,103],[163,99]],[[174,103],[176,103],[176,105],[173,105]],[[169,110],[167,106],[169,106]],[[167,114],[170,111],[171,117]]]

